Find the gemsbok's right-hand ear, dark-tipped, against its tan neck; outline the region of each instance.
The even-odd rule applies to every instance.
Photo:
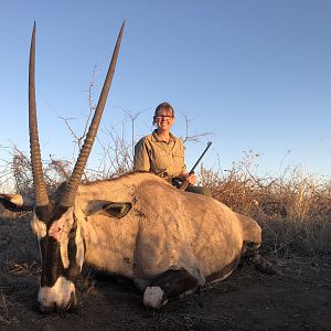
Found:
[[[128,214],[132,204],[130,202],[109,202],[103,200],[94,200],[87,203],[85,207],[86,216],[104,215],[121,218]]]

